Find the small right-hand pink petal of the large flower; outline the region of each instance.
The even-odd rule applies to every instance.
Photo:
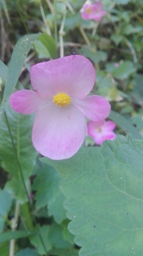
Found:
[[[110,113],[109,102],[98,95],[87,96],[82,100],[73,98],[72,103],[92,121],[105,119]]]

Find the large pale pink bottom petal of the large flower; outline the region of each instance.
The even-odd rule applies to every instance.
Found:
[[[34,147],[54,160],[72,157],[85,138],[83,114],[72,104],[59,108],[52,101],[38,110],[33,127]]]

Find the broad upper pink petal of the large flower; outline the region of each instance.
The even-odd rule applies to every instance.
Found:
[[[39,95],[52,98],[62,92],[82,99],[94,86],[95,69],[87,58],[70,55],[32,66],[31,82]]]

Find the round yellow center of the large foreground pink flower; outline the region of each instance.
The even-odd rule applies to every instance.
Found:
[[[58,93],[53,96],[52,101],[58,106],[67,106],[71,103],[71,97],[66,93]]]

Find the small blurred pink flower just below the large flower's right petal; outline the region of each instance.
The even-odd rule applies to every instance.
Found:
[[[113,140],[116,138],[116,134],[113,132],[115,127],[116,124],[113,121],[89,121],[88,135],[94,139],[96,144],[101,145],[104,140]]]

